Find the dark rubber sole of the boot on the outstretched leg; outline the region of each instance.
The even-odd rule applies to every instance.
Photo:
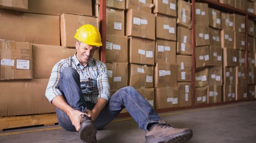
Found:
[[[154,141],[151,141],[151,143],[186,143],[192,138],[192,136],[192,130],[185,130],[169,137],[156,138]]]

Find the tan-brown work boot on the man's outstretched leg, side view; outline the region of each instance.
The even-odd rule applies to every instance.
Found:
[[[157,125],[147,131],[145,143],[186,143],[192,136],[190,129],[177,129],[159,120]]]

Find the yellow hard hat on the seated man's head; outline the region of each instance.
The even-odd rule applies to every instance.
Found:
[[[78,28],[74,38],[87,45],[102,46],[100,32],[91,24],[82,25]]]

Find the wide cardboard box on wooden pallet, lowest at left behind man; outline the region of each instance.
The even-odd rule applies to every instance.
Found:
[[[0,116],[56,112],[45,98],[47,83],[48,79],[1,81]]]

